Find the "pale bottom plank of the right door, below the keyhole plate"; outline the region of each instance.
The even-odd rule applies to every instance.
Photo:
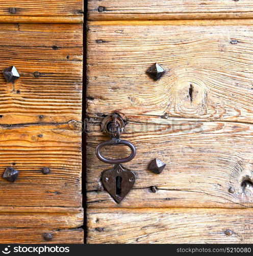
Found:
[[[253,243],[252,213],[252,209],[88,209],[87,242]]]

